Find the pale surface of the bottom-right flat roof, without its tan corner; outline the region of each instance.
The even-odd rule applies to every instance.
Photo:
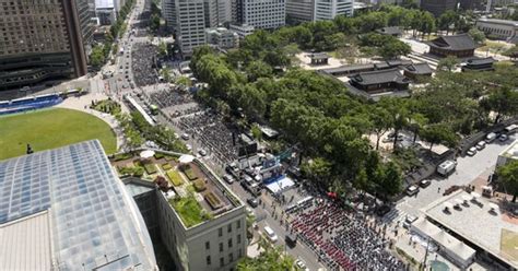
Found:
[[[457,201],[464,201],[464,198],[468,197],[472,198],[463,190],[459,190],[431,203],[423,211],[428,217],[464,239],[518,268],[518,259],[506,255],[501,249],[502,232],[507,229],[518,233],[518,225],[504,220],[499,210],[496,213],[491,213],[490,202],[485,198],[478,198],[482,204],[473,203],[470,200],[468,205],[461,204],[460,210],[451,209],[449,213],[444,211],[445,202],[456,204]]]

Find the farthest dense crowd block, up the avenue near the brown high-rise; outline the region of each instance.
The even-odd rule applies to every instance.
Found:
[[[134,44],[131,50],[132,69],[134,83],[138,86],[155,84],[158,82],[158,75],[154,67],[154,56],[156,48],[149,44]]]

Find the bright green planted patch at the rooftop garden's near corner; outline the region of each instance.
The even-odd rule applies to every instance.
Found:
[[[191,227],[212,219],[212,214],[203,210],[193,193],[169,199],[169,204],[175,209],[176,213],[178,213],[186,227]]]

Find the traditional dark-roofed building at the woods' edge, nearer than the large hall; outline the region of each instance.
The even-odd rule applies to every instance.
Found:
[[[351,85],[367,93],[402,91],[409,89],[410,80],[398,69],[362,72],[351,78]]]

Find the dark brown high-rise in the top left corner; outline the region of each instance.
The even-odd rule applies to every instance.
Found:
[[[86,74],[87,0],[0,1],[0,90]]]

